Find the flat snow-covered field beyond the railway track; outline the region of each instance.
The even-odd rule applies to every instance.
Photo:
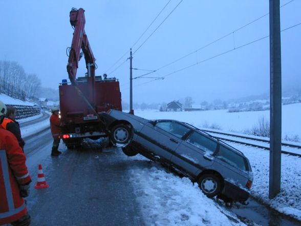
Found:
[[[270,118],[270,111],[248,111],[233,112],[228,110],[215,111],[181,111],[181,112],[159,112],[159,111],[137,111],[138,115],[147,119],[176,119],[202,128],[216,126],[220,130],[243,133],[250,130],[259,123],[259,119]],[[301,103],[282,106],[282,137],[285,135],[298,135],[301,138]]]

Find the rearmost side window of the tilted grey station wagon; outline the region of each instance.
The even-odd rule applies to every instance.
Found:
[[[222,145],[220,146],[217,158],[224,162],[227,162],[235,168],[248,171],[247,161],[245,160],[245,158]]]

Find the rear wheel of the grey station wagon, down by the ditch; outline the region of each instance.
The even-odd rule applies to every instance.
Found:
[[[199,180],[198,184],[202,192],[209,198],[218,195],[221,191],[221,180],[214,174],[204,174]]]

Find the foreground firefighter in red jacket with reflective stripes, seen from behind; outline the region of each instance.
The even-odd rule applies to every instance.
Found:
[[[6,106],[0,101],[0,123]],[[31,177],[16,137],[0,125],[0,225],[28,226],[30,216],[23,197],[29,195]]]

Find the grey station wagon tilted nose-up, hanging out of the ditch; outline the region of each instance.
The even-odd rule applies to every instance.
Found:
[[[163,163],[198,182],[208,197],[244,202],[253,176],[239,150],[177,120],[147,120],[111,110],[103,113],[111,141],[127,156],[141,155]]]

